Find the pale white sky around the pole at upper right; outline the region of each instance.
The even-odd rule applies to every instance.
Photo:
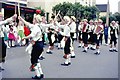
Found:
[[[107,4],[108,0],[96,0],[96,4]],[[118,12],[118,2],[120,0],[109,0],[110,3],[110,12]]]

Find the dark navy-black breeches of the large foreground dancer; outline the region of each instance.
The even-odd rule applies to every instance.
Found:
[[[38,63],[39,56],[43,52],[43,41],[37,41],[33,45],[32,53],[31,53],[31,64],[34,65]]]

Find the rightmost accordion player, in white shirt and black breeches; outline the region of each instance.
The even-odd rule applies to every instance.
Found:
[[[102,33],[103,28],[104,28],[102,25],[102,22],[103,21],[101,19],[98,20],[98,25],[96,25],[94,32],[93,32],[94,37],[95,37],[95,42],[96,42],[96,49],[97,49],[96,53],[94,53],[94,54],[96,54],[96,55],[100,54],[100,44],[99,44],[100,34]]]

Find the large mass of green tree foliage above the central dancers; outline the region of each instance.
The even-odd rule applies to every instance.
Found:
[[[94,19],[99,15],[99,10],[96,6],[82,6],[80,3],[63,2],[55,5],[52,11],[58,13],[60,11],[61,16],[75,16],[77,19]]]

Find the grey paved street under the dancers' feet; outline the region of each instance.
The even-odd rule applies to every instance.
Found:
[[[48,46],[45,46],[44,57],[40,61],[45,78],[117,78],[118,77],[118,53],[110,53],[109,46],[101,46],[101,54],[94,55],[95,51],[88,50],[83,53],[83,48],[78,48],[78,42],[74,43],[76,58],[68,67],[61,66],[64,62],[63,50],[55,47],[53,54],[46,54]],[[25,52],[26,47],[7,49],[6,63],[3,64],[3,78],[31,78],[34,73],[29,71],[30,57]]]

